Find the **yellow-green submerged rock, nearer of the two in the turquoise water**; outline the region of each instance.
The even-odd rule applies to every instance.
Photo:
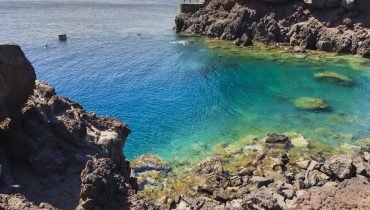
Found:
[[[307,111],[328,111],[330,107],[320,98],[302,97],[294,100],[295,107]]]

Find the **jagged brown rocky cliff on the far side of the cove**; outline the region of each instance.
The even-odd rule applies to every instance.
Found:
[[[370,57],[369,12],[367,0],[212,0],[175,22],[177,32],[235,40],[239,46],[287,45]]]

